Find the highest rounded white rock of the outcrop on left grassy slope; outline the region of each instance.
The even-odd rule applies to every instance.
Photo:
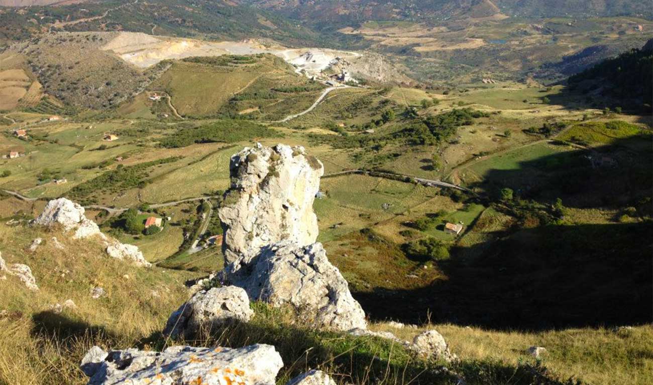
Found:
[[[74,230],[75,239],[100,234],[97,224],[84,216],[84,207],[65,198],[49,201],[34,223],[48,227],[59,223],[66,231]]]

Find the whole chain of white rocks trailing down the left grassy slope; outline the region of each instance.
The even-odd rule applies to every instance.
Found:
[[[100,228],[97,227],[97,223],[84,216],[84,211],[84,207],[69,199],[53,199],[48,202],[40,215],[33,221],[33,224],[47,227],[61,225],[65,231],[74,231],[73,239],[97,235],[103,240],[106,247],[105,251],[110,257],[132,261],[140,266],[151,266],[143,257],[143,253],[138,250],[138,246],[123,244],[104,235]],[[53,240],[56,248],[63,248],[56,238],[53,238]]]

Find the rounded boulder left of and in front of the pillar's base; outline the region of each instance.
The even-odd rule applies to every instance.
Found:
[[[214,328],[241,321],[247,322],[254,312],[249,308],[247,293],[236,286],[214,287],[199,291],[177,309],[163,330],[176,338],[193,337],[201,328]]]

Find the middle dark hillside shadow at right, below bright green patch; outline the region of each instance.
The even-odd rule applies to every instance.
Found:
[[[614,138],[611,145],[522,161],[517,169],[490,169],[468,187],[490,195],[508,187],[516,197],[543,203],[560,197],[567,207],[634,205],[652,194],[651,143],[650,137]]]

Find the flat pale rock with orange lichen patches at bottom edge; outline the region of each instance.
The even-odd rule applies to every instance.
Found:
[[[240,349],[175,346],[163,352],[138,349],[104,352],[93,347],[82,360],[89,385],[274,385],[283,366],[270,345]]]

